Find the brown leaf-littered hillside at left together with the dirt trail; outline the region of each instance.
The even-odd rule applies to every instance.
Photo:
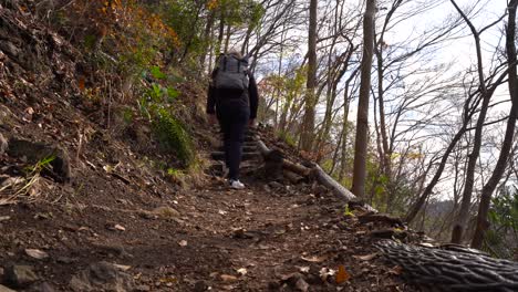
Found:
[[[328,189],[263,180],[256,163],[247,188],[229,190],[209,171],[217,135],[188,84],[178,116],[203,169],[168,175],[174,156],[149,123],[123,121],[121,92],[89,95],[89,82],[110,80],[35,3],[0,2],[1,292],[416,291],[372,246],[393,226],[344,215]]]

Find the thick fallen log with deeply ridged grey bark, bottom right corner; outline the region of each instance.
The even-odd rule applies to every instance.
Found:
[[[425,291],[518,291],[518,262],[393,240],[374,246],[391,264],[402,268],[405,279]]]

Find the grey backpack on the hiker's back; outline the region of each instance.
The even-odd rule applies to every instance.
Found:
[[[248,60],[235,55],[221,54],[218,71],[214,77],[214,87],[218,90],[248,90]]]

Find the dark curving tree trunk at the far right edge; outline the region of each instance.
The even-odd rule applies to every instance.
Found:
[[[498,181],[501,178],[509,158],[509,153],[512,144],[512,138],[515,135],[516,119],[518,118],[518,76],[517,76],[517,58],[516,58],[516,8],[518,6],[518,0],[511,0],[508,6],[509,17],[507,22],[506,31],[506,51],[507,51],[507,62],[509,64],[509,94],[512,102],[512,106],[509,113],[509,118],[507,119],[506,135],[504,138],[504,144],[498,157],[498,161],[493,170],[493,174],[486,185],[483,188],[480,204],[478,205],[478,215],[477,215],[477,225],[475,229],[475,234],[472,240],[472,247],[479,249],[484,242],[484,236],[486,230],[489,228],[487,222],[487,213],[489,211],[489,204],[491,201],[491,195],[495,191],[495,188],[498,185]]]

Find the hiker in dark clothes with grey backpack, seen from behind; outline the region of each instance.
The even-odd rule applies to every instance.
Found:
[[[225,164],[230,187],[242,189],[239,181],[242,142],[247,125],[253,126],[257,116],[256,80],[248,71],[248,60],[237,51],[221,54],[211,74],[207,97],[207,114],[211,123],[219,122],[224,133]]]

